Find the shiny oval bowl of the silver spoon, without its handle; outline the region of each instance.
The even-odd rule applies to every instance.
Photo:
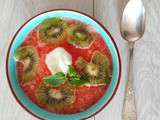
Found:
[[[145,31],[145,8],[141,0],[130,0],[126,5],[120,31],[122,37],[130,42],[139,40]]]

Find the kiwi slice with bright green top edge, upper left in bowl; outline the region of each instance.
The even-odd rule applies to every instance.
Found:
[[[56,43],[66,37],[67,23],[61,18],[49,18],[39,25],[38,35],[42,42]]]

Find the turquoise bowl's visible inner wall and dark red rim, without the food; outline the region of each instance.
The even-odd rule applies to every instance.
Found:
[[[27,34],[33,28],[39,25],[46,18],[50,18],[50,17],[69,17],[69,18],[73,18],[73,19],[85,22],[87,24],[90,24],[91,26],[94,26],[97,29],[97,31],[101,34],[101,36],[104,38],[111,52],[112,63],[113,63],[113,78],[109,85],[109,88],[99,102],[97,102],[95,105],[93,105],[92,107],[90,107],[84,112],[71,114],[71,115],[58,115],[58,114],[47,112],[41,109],[40,107],[38,107],[37,105],[33,104],[25,96],[23,90],[19,86],[19,83],[16,77],[16,71],[15,71],[16,68],[15,68],[15,61],[13,57],[14,52],[16,48],[18,48],[21,45],[21,43],[24,41]],[[113,98],[118,88],[118,84],[120,82],[120,76],[121,76],[120,55],[119,55],[117,46],[113,38],[111,37],[110,33],[105,29],[104,26],[102,26],[94,18],[91,18],[84,13],[80,13],[73,10],[52,10],[52,11],[39,14],[31,18],[29,21],[27,21],[17,31],[17,33],[15,34],[10,44],[8,54],[7,54],[6,67],[7,67],[6,72],[7,72],[8,82],[16,100],[29,113],[31,113],[35,117],[38,117],[40,119],[45,119],[45,120],[78,120],[78,119],[86,119],[95,115],[100,110],[102,110]]]

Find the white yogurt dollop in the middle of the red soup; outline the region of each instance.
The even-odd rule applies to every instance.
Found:
[[[66,74],[68,65],[72,64],[72,56],[64,48],[58,47],[46,55],[45,62],[52,74],[56,72]]]

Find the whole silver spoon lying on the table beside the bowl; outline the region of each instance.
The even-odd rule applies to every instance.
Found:
[[[123,12],[120,31],[122,37],[129,42],[130,65],[129,78],[126,86],[126,94],[123,105],[123,120],[137,120],[135,95],[133,90],[133,47],[145,31],[145,8],[141,0],[130,0]]]

